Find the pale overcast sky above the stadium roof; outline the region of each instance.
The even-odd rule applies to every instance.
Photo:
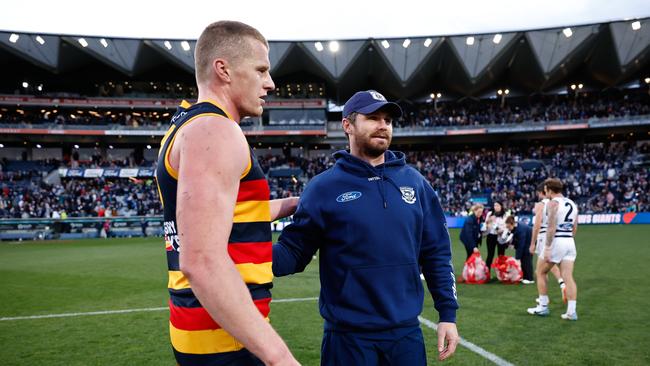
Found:
[[[130,38],[196,39],[231,19],[270,40],[476,34],[650,16],[649,0],[229,0],[15,1],[0,30]]]

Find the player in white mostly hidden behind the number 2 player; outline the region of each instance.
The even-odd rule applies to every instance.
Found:
[[[546,229],[548,228],[548,216],[546,215],[546,204],[550,201],[546,198],[546,193],[544,192],[544,183],[537,185],[537,197],[539,202],[535,203],[535,221],[533,222],[533,235],[530,240],[530,254],[537,254],[537,264],[535,266],[535,276],[539,277],[542,274],[539,273],[543,267],[544,258],[544,243],[546,242]],[[558,284],[560,285],[560,292],[562,292],[562,301],[566,303],[566,286],[564,280],[560,275],[560,269],[557,265],[551,267],[551,273],[557,279]],[[522,281],[522,283],[527,284],[527,282]],[[539,299],[537,300],[539,302]]]

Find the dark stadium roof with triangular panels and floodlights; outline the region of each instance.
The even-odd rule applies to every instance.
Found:
[[[83,83],[193,80],[195,40],[0,32],[0,87],[23,79]],[[271,41],[276,84],[321,82],[338,101],[362,89],[394,99],[603,89],[650,77],[650,18],[521,32]],[[25,62],[28,61],[28,62]]]

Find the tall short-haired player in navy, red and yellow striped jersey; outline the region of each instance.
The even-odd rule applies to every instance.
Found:
[[[297,199],[270,200],[239,127],[261,116],[275,89],[268,42],[233,21],[205,28],[195,47],[198,101],[181,104],[161,141],[163,203],[176,361],[194,365],[298,365],[269,324],[270,223]]]

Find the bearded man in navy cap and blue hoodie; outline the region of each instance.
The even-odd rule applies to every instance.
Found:
[[[438,196],[403,153],[388,150],[401,114],[374,90],[346,102],[350,151],[336,152],[336,164],[309,182],[273,246],[276,276],[302,272],[320,250],[321,365],[425,365],[420,269],[439,314],[439,359],[460,340]]]

